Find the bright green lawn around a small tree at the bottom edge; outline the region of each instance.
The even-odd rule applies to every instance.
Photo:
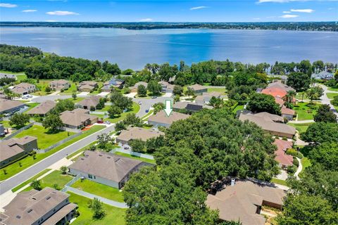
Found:
[[[125,224],[125,209],[120,209],[110,205],[104,205],[106,217],[99,220],[92,219],[92,211],[88,208],[89,198],[76,195],[75,193],[68,192],[70,194],[70,203],[75,203],[79,206],[78,211],[80,216],[73,221],[72,225],[106,225],[106,224]]]

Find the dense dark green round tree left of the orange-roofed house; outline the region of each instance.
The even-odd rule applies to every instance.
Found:
[[[249,103],[246,105],[248,110],[253,113],[272,113],[280,115],[280,105],[275,102],[275,98],[268,94],[255,93],[251,96]]]

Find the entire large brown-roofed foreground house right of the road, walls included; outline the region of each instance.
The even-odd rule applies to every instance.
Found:
[[[80,174],[85,179],[120,189],[132,173],[144,166],[154,165],[101,150],[86,150],[68,168],[70,174]]]

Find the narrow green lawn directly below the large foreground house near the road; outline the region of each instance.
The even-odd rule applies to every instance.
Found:
[[[104,184],[99,184],[94,181],[89,181],[84,179],[83,181],[78,180],[73,185],[73,188],[77,188],[82,191],[92,193],[94,195],[99,195],[103,198],[108,198],[116,202],[123,203],[123,195],[118,188],[112,188],[111,186],[106,186]]]

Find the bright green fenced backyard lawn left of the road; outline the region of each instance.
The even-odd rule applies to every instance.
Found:
[[[26,135],[35,136],[37,137],[37,146],[40,149],[44,149],[54,145],[54,143],[57,143],[58,141],[68,138],[68,136],[72,136],[73,134],[75,133],[67,131],[59,131],[58,133],[53,134],[50,133],[48,129],[44,129],[42,126],[33,125],[29,129],[26,129],[25,131],[15,135],[15,138],[22,138]]]

